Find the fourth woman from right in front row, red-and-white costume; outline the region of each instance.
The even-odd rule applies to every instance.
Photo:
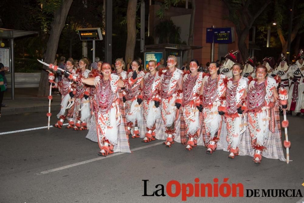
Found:
[[[199,62],[192,59],[189,64],[190,73],[185,74],[183,84],[183,119],[185,120],[185,134],[189,138],[185,150],[191,151],[197,145],[202,123],[202,104],[199,91],[202,86],[203,73],[198,72]],[[182,125],[181,121],[181,125]]]

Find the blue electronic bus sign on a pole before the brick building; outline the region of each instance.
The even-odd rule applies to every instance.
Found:
[[[234,27],[207,28],[206,43],[229,44],[234,41]]]

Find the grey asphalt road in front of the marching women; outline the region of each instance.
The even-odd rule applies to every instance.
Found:
[[[57,111],[52,113],[51,123],[55,123]],[[130,139],[133,153],[116,153],[103,158],[97,156],[98,144],[85,139],[87,131],[44,128],[1,135],[46,126],[45,113],[2,116],[0,201],[179,202],[181,194],[177,197],[168,195],[166,185],[170,180],[194,185],[195,178],[199,178],[200,184],[211,183],[216,191],[214,178],[218,178],[218,187],[224,178],[229,178],[230,186],[233,183],[244,185],[244,197],[193,195],[187,202],[302,202],[304,199],[299,194],[298,197],[246,197],[247,189],[295,189],[295,194],[300,189],[304,196],[301,185],[304,183],[304,118],[293,116],[288,119],[288,135],[292,142],[290,159],[293,161],[287,164],[263,158],[261,165],[257,165],[249,156],[231,160],[227,158],[228,152],[221,150],[210,156],[202,146],[188,152],[179,143],[169,149],[160,143],[162,141],[142,143],[140,138]],[[166,196],[142,196],[143,180],[149,180],[148,195],[161,189],[156,185],[162,184]],[[175,186],[172,188],[175,193]],[[161,194],[161,190],[157,194]]]

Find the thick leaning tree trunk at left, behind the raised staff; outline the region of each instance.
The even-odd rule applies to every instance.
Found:
[[[67,14],[72,2],[73,0],[63,0],[60,7],[54,12],[54,20],[51,24],[50,37],[47,42],[47,51],[44,59],[46,63],[54,63],[60,34],[64,28],[65,20],[67,19]],[[48,67],[43,66],[37,96],[47,96],[49,94],[50,86],[48,82],[48,73],[45,71],[46,69],[48,69]]]

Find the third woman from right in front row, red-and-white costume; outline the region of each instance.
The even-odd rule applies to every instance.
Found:
[[[224,115],[223,100],[226,96],[228,82],[225,75],[218,75],[219,64],[212,62],[209,65],[209,73],[203,78],[199,94],[202,94],[203,110],[203,140],[207,146],[207,154],[212,154],[217,148],[222,117]],[[217,134],[216,134],[217,133]]]

